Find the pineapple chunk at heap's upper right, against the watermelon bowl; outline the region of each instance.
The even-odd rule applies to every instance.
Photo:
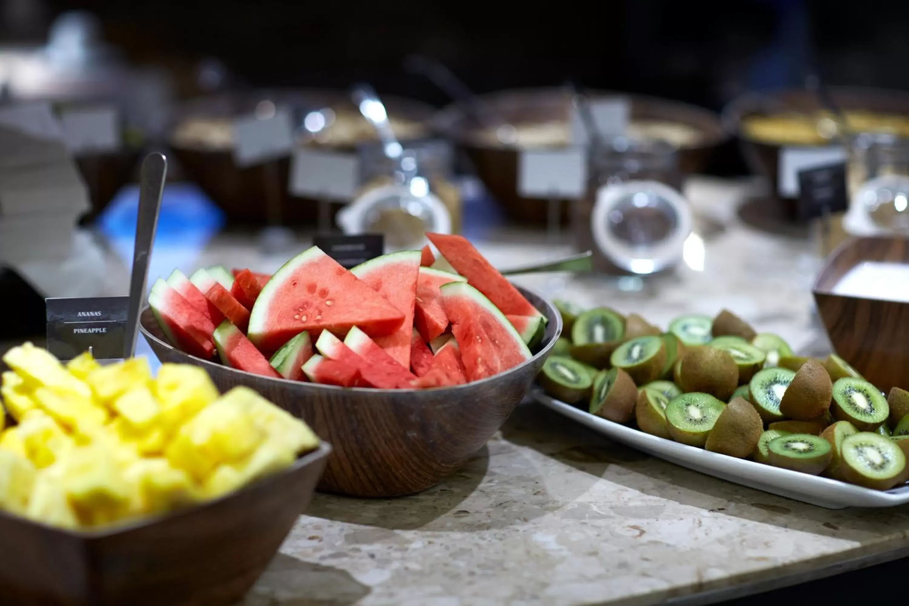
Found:
[[[155,395],[161,405],[161,423],[172,433],[218,398],[208,373],[188,364],[162,364],[155,381]]]

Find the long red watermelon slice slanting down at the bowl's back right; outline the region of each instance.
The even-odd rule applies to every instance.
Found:
[[[542,315],[464,236],[426,233],[426,237],[452,263],[457,273],[467,278],[467,282],[499,311],[510,315]]]

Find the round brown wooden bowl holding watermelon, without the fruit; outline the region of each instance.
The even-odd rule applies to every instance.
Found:
[[[161,362],[201,366],[222,391],[251,387],[334,444],[320,491],[393,497],[424,491],[461,467],[534,382],[562,319],[552,303],[521,291],[549,319],[534,357],[483,381],[430,390],[342,389],[237,371],[172,347],[147,309],[141,330]]]

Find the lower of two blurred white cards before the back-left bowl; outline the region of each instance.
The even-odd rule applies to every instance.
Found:
[[[287,187],[293,195],[348,202],[358,180],[355,154],[301,148],[294,151]]]

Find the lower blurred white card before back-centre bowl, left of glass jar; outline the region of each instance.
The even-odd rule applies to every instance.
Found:
[[[525,198],[568,198],[584,195],[587,163],[583,147],[522,152],[518,193]]]

